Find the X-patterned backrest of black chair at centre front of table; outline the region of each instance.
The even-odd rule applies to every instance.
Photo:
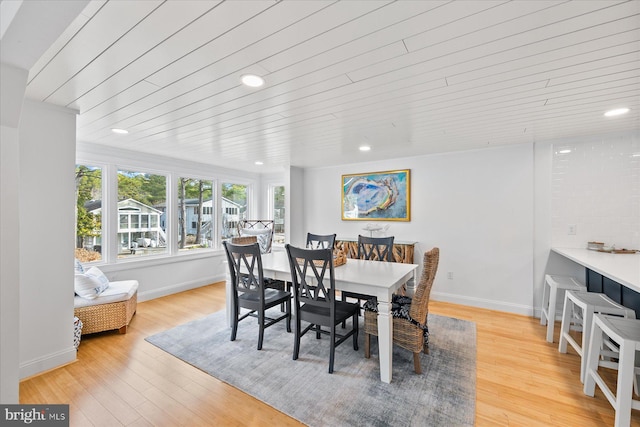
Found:
[[[285,245],[296,307],[309,304],[328,308],[335,315],[336,287],[333,272],[333,251],[302,249]],[[313,275],[309,275],[313,272]],[[328,277],[327,277],[328,276]]]

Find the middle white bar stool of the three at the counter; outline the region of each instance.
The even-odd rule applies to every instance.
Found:
[[[572,322],[572,314],[576,309],[582,322],[582,345],[569,335],[569,327]],[[589,352],[589,337],[593,316],[595,313],[612,314],[629,319],[635,319],[636,313],[632,309],[618,304],[605,294],[584,291],[567,291],[564,297],[564,309],[562,310],[562,324],[560,326],[560,343],[558,351],[567,352],[567,343],[571,344],[580,355],[580,382],[584,383],[584,375],[587,367],[587,354]]]

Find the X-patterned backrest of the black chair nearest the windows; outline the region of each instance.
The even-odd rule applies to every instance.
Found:
[[[264,302],[264,276],[262,274],[262,256],[258,243],[234,245],[222,242],[227,253],[231,283],[237,293],[255,293]],[[243,271],[244,267],[244,271]]]

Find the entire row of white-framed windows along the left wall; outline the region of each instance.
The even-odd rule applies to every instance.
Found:
[[[167,163],[146,160],[117,166],[133,160],[83,155],[87,157],[75,165],[74,231],[76,257],[83,263],[116,264],[140,258],[151,258],[153,263],[159,258],[154,255],[188,258],[193,252],[219,249],[218,239],[237,235],[238,223],[246,218],[251,204],[252,179],[223,184],[208,166],[177,162],[167,167]]]

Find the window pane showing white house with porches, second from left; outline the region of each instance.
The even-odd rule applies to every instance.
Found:
[[[167,199],[167,178],[118,170],[118,258],[167,252],[167,236],[158,226]]]

